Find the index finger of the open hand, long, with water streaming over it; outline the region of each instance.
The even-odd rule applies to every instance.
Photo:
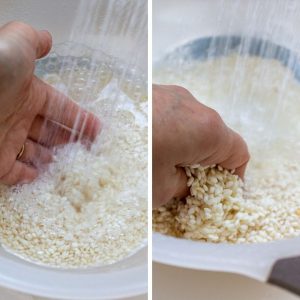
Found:
[[[82,139],[94,141],[101,130],[99,119],[92,113],[80,108],[78,104],[44,83],[34,78],[35,94],[44,97],[45,103],[40,115],[79,132]]]

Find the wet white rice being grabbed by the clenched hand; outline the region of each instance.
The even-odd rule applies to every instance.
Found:
[[[233,70],[241,61],[245,68],[236,76]],[[262,72],[270,76],[260,78]],[[207,77],[214,78],[214,83]],[[240,77],[241,86],[236,86]],[[156,79],[183,85],[218,109],[225,121],[246,137],[251,160],[244,182],[220,166],[186,167],[190,195],[154,210],[153,230],[214,243],[256,243],[299,236],[300,85],[293,75],[276,61],[231,56],[195,62],[185,72],[174,71],[172,75],[169,69],[159,70]],[[234,103],[235,98],[240,102]],[[273,123],[278,105],[281,110]],[[249,110],[255,109],[256,115],[248,119]],[[230,115],[232,110],[234,115]]]

